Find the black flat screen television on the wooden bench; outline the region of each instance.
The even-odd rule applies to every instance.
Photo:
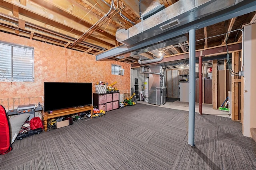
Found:
[[[44,82],[44,111],[92,106],[92,83]]]

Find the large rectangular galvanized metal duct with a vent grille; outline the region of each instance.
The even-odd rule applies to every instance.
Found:
[[[239,2],[238,2],[239,1]],[[167,31],[179,29],[187,23],[202,20],[243,0],[179,0],[160,12],[142,20],[129,29],[116,31],[116,40],[130,46]],[[184,32],[186,33],[186,32]]]

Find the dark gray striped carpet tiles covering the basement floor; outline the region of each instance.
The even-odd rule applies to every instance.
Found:
[[[230,118],[145,104],[16,140],[0,170],[256,170],[256,143]]]

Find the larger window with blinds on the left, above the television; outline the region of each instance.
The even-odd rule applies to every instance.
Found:
[[[34,82],[34,48],[0,41],[0,81]]]

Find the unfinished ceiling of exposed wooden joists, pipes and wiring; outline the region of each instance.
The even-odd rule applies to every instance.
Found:
[[[198,0],[200,1],[202,0]],[[141,19],[146,21],[155,13],[169,6],[177,6],[178,3],[178,8],[183,9],[180,4],[186,5],[188,0],[113,0],[113,2],[112,4],[111,0],[1,0],[0,31],[99,55],[123,45],[116,40],[118,30],[128,30],[141,23],[143,21]],[[225,38],[224,34],[242,29],[244,24],[255,23],[255,20],[254,11],[196,29],[196,50],[241,42],[242,31],[231,32],[228,38]],[[144,53],[142,53],[143,49],[137,49],[140,51],[139,54],[135,52],[134,55],[133,52],[104,60],[126,62],[133,66],[138,64],[138,59],[145,61],[159,57],[156,50],[162,51],[165,58],[182,55],[188,51],[189,39],[187,33],[181,37],[181,43],[175,41],[175,44],[166,44],[159,49],[146,50]]]

